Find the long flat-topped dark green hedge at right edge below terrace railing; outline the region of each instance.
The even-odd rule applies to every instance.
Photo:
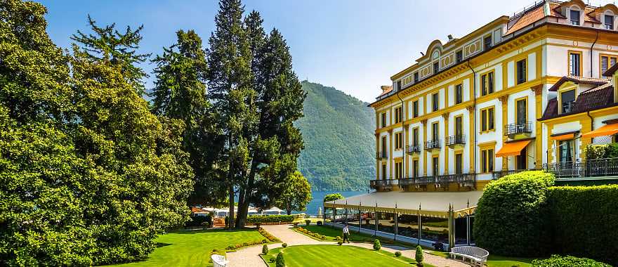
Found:
[[[618,266],[618,185],[549,190],[555,253]]]

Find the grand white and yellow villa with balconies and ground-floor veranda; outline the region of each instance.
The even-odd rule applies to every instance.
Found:
[[[473,244],[490,181],[526,169],[560,183],[618,176],[589,159],[617,142],[618,8],[541,1],[431,42],[390,77],[376,111],[371,193],[324,203],[334,226],[445,248]]]

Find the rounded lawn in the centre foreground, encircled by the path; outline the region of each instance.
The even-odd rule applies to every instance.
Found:
[[[291,246],[284,249],[271,249],[268,255],[262,256],[269,266],[270,257],[276,257],[283,252],[285,265],[296,266],[333,266],[333,267],[357,267],[357,266],[412,266],[414,260],[404,256],[395,257],[384,251],[373,251],[362,247],[337,246],[337,245],[303,245]],[[429,264],[425,266],[432,267]]]

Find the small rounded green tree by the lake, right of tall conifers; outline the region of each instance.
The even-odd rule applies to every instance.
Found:
[[[310,201],[311,185],[300,171],[295,171],[286,181],[285,189],[277,197],[275,204],[290,215],[294,210],[305,210]]]

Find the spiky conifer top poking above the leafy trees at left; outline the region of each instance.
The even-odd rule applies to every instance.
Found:
[[[140,25],[136,30],[127,26],[124,33],[116,29],[116,24],[99,27],[96,21],[88,15],[88,25],[94,34],[84,34],[77,30],[77,34],[73,34],[71,39],[80,47],[76,53],[82,53],[84,58],[93,61],[106,61],[114,66],[119,66],[121,74],[126,82],[131,84],[136,89],[139,96],[145,93],[143,79],[148,77],[138,64],[145,62],[150,53],[138,53],[142,36],[140,32],[143,25]]]

